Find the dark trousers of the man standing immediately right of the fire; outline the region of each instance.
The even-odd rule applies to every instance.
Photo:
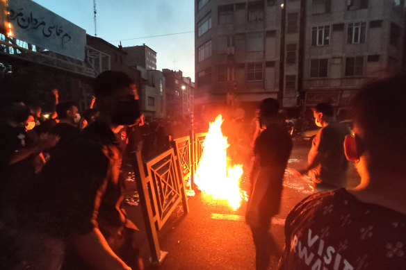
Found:
[[[270,224],[250,226],[255,244],[255,265],[257,270],[267,270],[271,256],[279,259],[281,251],[270,234]]]

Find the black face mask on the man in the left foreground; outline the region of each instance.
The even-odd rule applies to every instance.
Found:
[[[140,108],[135,99],[129,101],[117,101],[111,113],[111,121],[117,126],[128,126],[136,122],[140,117]]]

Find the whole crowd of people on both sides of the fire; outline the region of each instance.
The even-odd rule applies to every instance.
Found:
[[[405,85],[405,74],[365,85],[352,101],[355,135],[335,121],[330,104],[313,108],[320,130],[308,166],[293,173],[309,174],[322,192],[289,213],[284,251],[270,224],[279,212],[293,142],[278,101],[261,102],[252,122],[246,212],[258,270],[268,269],[273,256],[280,258],[279,269],[406,267]],[[0,268],[143,269],[137,228],[120,208],[120,171],[134,163],[136,151],[148,160],[168,149],[171,138],[188,135],[189,121],[148,123],[136,85],[120,71],[95,79],[95,98],[83,117],[75,103],[52,93],[56,109],[47,119],[38,106],[2,101]],[[236,126],[245,125],[234,120],[230,140],[238,145],[247,128],[239,132]],[[241,140],[247,147],[231,149],[234,158],[251,151],[250,140]],[[361,176],[355,189],[343,188],[348,160]]]

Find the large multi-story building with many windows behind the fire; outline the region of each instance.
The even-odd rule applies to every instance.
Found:
[[[403,0],[195,0],[195,107],[338,108],[405,65]]]

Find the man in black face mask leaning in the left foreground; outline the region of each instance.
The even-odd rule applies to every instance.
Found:
[[[120,237],[131,236],[124,230],[131,224],[118,208],[122,152],[116,134],[140,115],[131,83],[117,71],[96,78],[95,123],[58,144],[35,185],[0,217],[14,222],[13,211],[20,213],[0,230],[0,246],[7,247],[0,269],[22,263],[31,269],[143,269],[136,251],[125,262],[120,254],[125,242]],[[2,237],[4,232],[8,237]]]

